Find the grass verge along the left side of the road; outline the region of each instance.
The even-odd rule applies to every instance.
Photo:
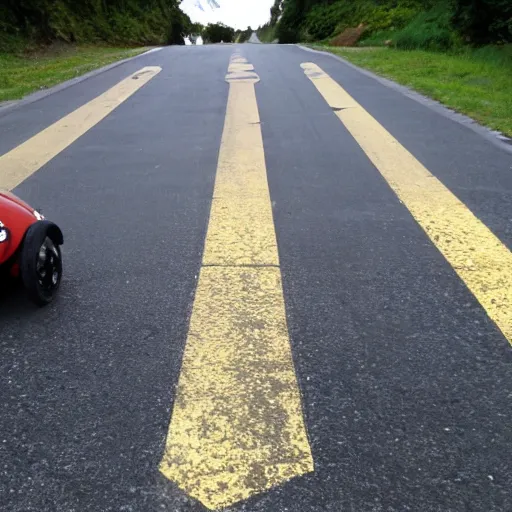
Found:
[[[145,50],[67,46],[29,56],[0,53],[0,101],[20,99]]]

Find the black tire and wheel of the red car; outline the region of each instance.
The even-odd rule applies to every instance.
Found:
[[[20,273],[28,296],[38,306],[52,302],[62,279],[62,233],[47,221],[30,226],[20,253]]]

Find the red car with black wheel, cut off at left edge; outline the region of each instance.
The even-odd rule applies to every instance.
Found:
[[[0,283],[21,278],[36,304],[49,304],[62,278],[63,243],[58,226],[14,194],[0,191]]]

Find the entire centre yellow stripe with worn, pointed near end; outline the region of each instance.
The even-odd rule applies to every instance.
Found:
[[[210,223],[161,472],[210,509],[313,471],[254,84],[232,60]]]

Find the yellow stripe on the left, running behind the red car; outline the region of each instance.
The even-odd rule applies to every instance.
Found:
[[[162,71],[145,67],[0,156],[0,189],[12,190]]]

